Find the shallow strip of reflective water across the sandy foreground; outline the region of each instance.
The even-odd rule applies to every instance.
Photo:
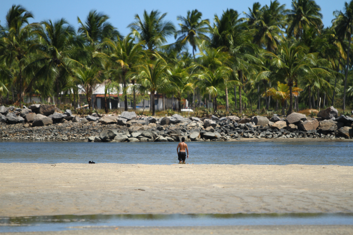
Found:
[[[352,225],[353,213],[119,214],[0,217],[0,232],[113,226]]]

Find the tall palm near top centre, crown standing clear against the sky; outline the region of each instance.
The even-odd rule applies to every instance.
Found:
[[[193,48],[193,57],[195,60],[196,46],[199,44],[198,41],[209,40],[206,33],[209,31],[209,21],[202,20],[202,13],[198,10],[188,11],[187,17],[178,16],[177,20],[182,23],[179,24],[180,30],[175,32],[175,38],[179,36],[178,41],[187,41]]]

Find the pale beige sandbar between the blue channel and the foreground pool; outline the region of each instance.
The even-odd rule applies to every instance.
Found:
[[[0,216],[352,213],[353,167],[0,164]]]

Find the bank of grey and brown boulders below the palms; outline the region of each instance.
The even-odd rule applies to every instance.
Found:
[[[54,105],[31,105],[29,108],[0,107],[0,140],[91,141],[91,142],[168,142],[237,141],[253,139],[352,139],[353,118],[339,116],[336,109],[322,110],[317,118],[292,113],[286,118],[264,116],[239,118],[72,115]]]

